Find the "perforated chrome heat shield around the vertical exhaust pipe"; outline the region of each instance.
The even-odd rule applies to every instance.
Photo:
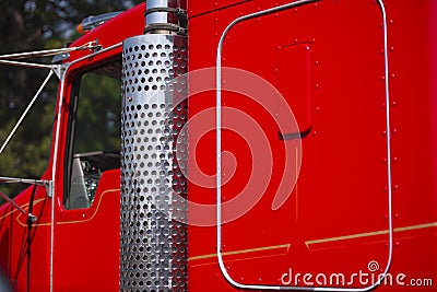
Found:
[[[123,43],[120,291],[187,290],[187,38]]]

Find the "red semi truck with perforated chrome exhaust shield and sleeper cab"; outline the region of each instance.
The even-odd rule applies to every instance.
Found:
[[[39,66],[47,171],[1,177],[31,184],[0,207],[4,290],[435,291],[436,1],[150,0],[83,24]]]

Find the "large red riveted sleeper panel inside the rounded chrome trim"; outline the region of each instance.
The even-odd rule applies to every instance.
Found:
[[[222,16],[226,17],[217,13]],[[226,92],[225,85],[222,92],[222,107],[250,117],[253,131],[261,129],[269,147],[268,155],[255,156],[262,141],[239,135],[236,129],[243,119],[222,108],[221,149],[232,152],[237,165],[234,178],[221,173],[226,178],[217,209],[222,273],[229,284],[249,289],[371,287],[377,282],[375,273],[381,275],[391,257],[382,3],[321,1],[259,13],[234,24],[223,38],[222,83],[232,79],[225,69],[232,67],[257,74],[277,94],[257,100]],[[245,80],[250,79],[239,82]],[[270,98],[273,115],[260,104],[263,98]],[[298,131],[277,126],[290,114],[283,102],[292,109]],[[284,171],[294,167],[295,172]],[[291,175],[295,177],[290,179]],[[263,179],[268,179],[265,188],[250,194],[257,203],[226,220],[235,210],[226,202],[243,196],[253,180]],[[279,192],[287,187],[284,182],[295,183],[285,195]],[[354,280],[359,271],[374,275],[374,281]],[[306,273],[310,276],[304,279]]]

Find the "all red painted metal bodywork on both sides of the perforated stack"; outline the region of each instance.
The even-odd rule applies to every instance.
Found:
[[[214,68],[224,28],[236,17],[286,1],[193,1],[188,3],[189,69]],[[222,65],[247,70],[271,83],[293,109],[303,135],[296,141],[280,139],[276,121],[285,115],[272,95],[273,116],[248,96],[223,93],[223,105],[248,115],[269,144],[263,157],[252,157],[250,137],[236,132],[241,125],[224,113],[228,129],[222,149],[234,155],[224,167],[234,176],[223,186],[224,201],[253,179],[252,165],[269,168],[265,191],[258,203],[237,220],[223,224],[223,259],[229,276],[246,284],[282,284],[293,275],[369,272],[388,261],[387,162],[392,175],[393,256],[390,273],[432,279],[437,284],[437,49],[435,1],[386,0],[390,103],[386,104],[385,44],[381,11],[376,1],[321,1],[243,22],[231,30],[223,45]],[[104,47],[142,34],[144,7],[140,5],[95,28],[73,46],[98,39]],[[56,162],[54,291],[118,291],[119,172],[103,175],[95,203],[66,210],[63,161],[68,135],[68,105],[75,74],[119,56],[117,48],[87,58],[67,73],[60,155]],[[73,61],[85,51],[71,54]],[[210,73],[206,81],[214,84]],[[224,74],[226,81],[226,74]],[[196,80],[192,87],[198,86]],[[206,82],[206,83],[208,83]],[[228,82],[233,82],[229,80]],[[244,84],[245,80],[240,80]],[[256,86],[256,84],[253,84]],[[59,101],[58,101],[59,102]],[[190,117],[215,106],[215,92],[190,98]],[[390,109],[391,157],[387,157],[386,107]],[[238,120],[237,120],[238,121]],[[190,144],[192,159],[208,175],[215,173],[215,114],[211,129]],[[245,125],[245,124],[243,124]],[[204,126],[204,125],[203,125]],[[233,127],[235,127],[233,129]],[[246,128],[250,132],[250,125]],[[253,128],[255,129],[255,128]],[[193,133],[196,125],[190,128]],[[250,133],[249,133],[250,135]],[[194,139],[194,138],[192,138]],[[193,142],[191,140],[191,142]],[[287,162],[297,165],[297,184],[277,210],[272,202],[281,184],[286,143],[296,150]],[[54,149],[51,150],[54,152]],[[193,161],[192,161],[193,162]],[[228,163],[229,162],[229,163]],[[233,165],[233,163],[236,163]],[[51,165],[51,162],[50,164]],[[49,167],[43,178],[50,177]],[[255,177],[264,179],[265,177]],[[224,180],[227,179],[224,177]],[[215,203],[215,188],[189,185],[189,198]],[[0,207],[0,262],[16,291],[49,290],[50,203],[42,187],[16,198],[38,221],[32,226],[10,206]],[[224,209],[224,212],[233,210]],[[196,214],[191,214],[196,215]],[[212,212],[208,217],[215,219]],[[217,265],[216,226],[189,226],[190,291],[235,291]],[[315,280],[315,279],[312,279]],[[300,282],[295,283],[303,285]],[[368,283],[354,282],[359,288]],[[434,291],[422,287],[421,291]],[[418,291],[416,287],[381,285],[376,291]]]

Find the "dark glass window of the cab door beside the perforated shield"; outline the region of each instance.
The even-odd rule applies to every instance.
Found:
[[[88,208],[102,173],[120,167],[121,60],[74,80],[67,142],[66,209]]]

